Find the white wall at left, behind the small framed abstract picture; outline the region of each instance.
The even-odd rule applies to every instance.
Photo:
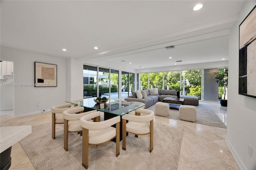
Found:
[[[43,109],[50,111],[52,106],[65,102],[66,59],[2,46],[1,59],[14,62],[14,83],[34,83],[35,61],[57,65],[57,87],[14,87],[14,118],[42,113]]]

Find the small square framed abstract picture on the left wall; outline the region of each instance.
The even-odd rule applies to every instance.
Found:
[[[57,65],[35,62],[35,87],[57,87]]]

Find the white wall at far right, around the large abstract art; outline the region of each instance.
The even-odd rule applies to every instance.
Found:
[[[239,25],[255,5],[255,0],[245,2],[229,38],[226,142],[242,170],[256,169],[256,99],[238,95]],[[248,144],[253,149],[252,157],[248,154]]]

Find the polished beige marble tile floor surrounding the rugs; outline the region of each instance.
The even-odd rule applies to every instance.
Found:
[[[226,125],[227,108],[219,103],[209,103],[210,108]],[[0,126],[32,125],[32,127],[52,120],[51,112],[12,118],[12,111],[0,112]],[[184,129],[182,147],[178,162],[178,170],[239,170],[228,146],[226,145],[226,129],[179,121],[156,116],[154,123]],[[10,170],[34,170],[19,143],[12,146],[12,166]]]

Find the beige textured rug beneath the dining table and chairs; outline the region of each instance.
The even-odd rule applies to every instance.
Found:
[[[36,170],[83,170],[82,136],[69,133],[68,151],[63,148],[63,124],[56,125],[52,139],[51,123],[32,128],[32,133],[20,140]],[[180,156],[183,129],[154,123],[154,148],[149,152],[149,134],[134,137],[129,134],[126,150],[116,157],[116,143],[89,146],[89,168],[92,170],[176,170]]]

